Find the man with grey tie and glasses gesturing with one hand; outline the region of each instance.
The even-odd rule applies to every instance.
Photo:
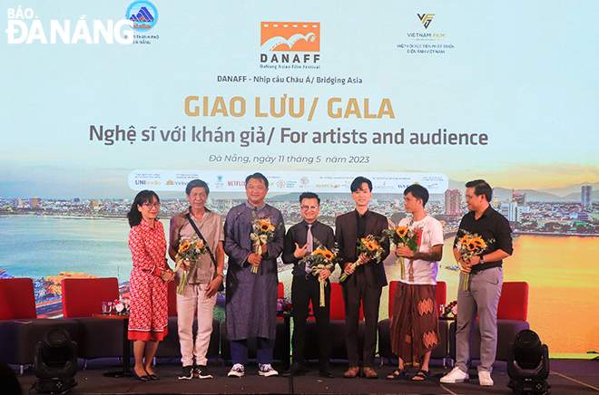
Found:
[[[300,195],[300,214],[303,220],[299,224],[291,226],[285,236],[283,262],[295,265],[293,267],[293,284],[291,285],[291,301],[293,303],[293,363],[291,364],[290,371],[286,373],[296,376],[305,372],[304,344],[306,341],[309,302],[311,300],[319,335],[319,373],[323,377],[333,378],[335,375],[331,371],[329,364],[331,354],[329,275],[331,270],[334,270],[334,264],[331,263],[330,267],[323,265],[324,267],[313,271],[312,265],[307,261],[309,256],[316,251],[322,251],[323,254],[328,253],[331,261],[334,258],[331,252],[335,247],[333,229],[319,222],[317,219],[319,212],[319,196],[312,192],[302,193]],[[302,263],[303,261],[306,262]],[[319,282],[325,282],[324,301],[320,301]]]

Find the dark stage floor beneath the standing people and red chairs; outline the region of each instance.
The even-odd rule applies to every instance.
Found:
[[[437,362],[437,361],[436,361]],[[279,371],[280,364],[273,365]],[[137,381],[133,378],[114,379],[103,376],[104,371],[118,371],[120,365],[116,359],[89,361],[83,371],[79,361],[79,371],[75,375],[78,385],[69,393],[72,394],[138,394],[138,393],[178,393],[178,394],[221,394],[221,393],[297,393],[297,394],[510,394],[506,387],[509,378],[506,362],[496,362],[493,371],[495,386],[481,387],[476,378],[476,368],[470,369],[470,381],[460,384],[441,384],[439,379],[450,370],[439,364],[431,365],[431,376],[424,382],[389,381],[385,377],[393,371],[393,366],[386,363],[377,367],[378,380],[343,379],[347,370],[344,361],[331,363],[337,375],[335,379],[319,377],[318,363],[308,365],[309,372],[290,381],[285,377],[265,378],[258,375],[258,365],[250,362],[246,366],[246,374],[241,379],[227,377],[230,364],[222,366],[221,361],[210,361],[209,369],[214,379],[180,381],[177,375],[181,365],[174,360],[158,360],[155,368],[161,376],[160,381]],[[16,368],[16,367],[15,367]],[[555,395],[581,395],[599,393],[599,361],[551,360],[551,374],[547,381],[551,385],[551,393]],[[35,381],[32,368],[25,370],[19,377],[24,394],[35,393],[30,389]],[[2,390],[0,390],[2,392]]]

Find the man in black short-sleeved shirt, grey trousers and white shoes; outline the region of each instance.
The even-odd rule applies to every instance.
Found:
[[[475,255],[466,262],[457,247],[454,248],[454,256],[461,266],[460,284],[466,273],[470,274],[470,284],[466,290],[460,286],[457,291],[456,367],[441,378],[444,383],[468,380],[466,371],[470,359],[471,330],[478,314],[481,338],[478,381],[480,385],[493,385],[491,371],[496,357],[497,305],[504,283],[501,265],[514,250],[509,222],[489,206],[492,194],[493,190],[482,179],[466,183],[466,202],[470,212],[462,218],[454,246],[466,235],[466,231],[481,236],[487,247],[481,255]]]

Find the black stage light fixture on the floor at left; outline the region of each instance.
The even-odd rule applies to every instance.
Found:
[[[46,332],[44,342],[35,346],[33,388],[38,393],[64,393],[77,385],[77,343],[64,328]]]

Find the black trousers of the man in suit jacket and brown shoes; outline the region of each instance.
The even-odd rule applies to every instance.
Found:
[[[359,267],[358,267],[359,269]],[[345,305],[345,335],[348,347],[349,367],[359,366],[360,351],[358,350],[358,320],[360,302],[364,305],[364,350],[362,351],[362,366],[374,367],[375,351],[377,349],[378,306],[382,288],[368,286],[363,270],[356,270],[355,281],[343,285],[343,300]]]

